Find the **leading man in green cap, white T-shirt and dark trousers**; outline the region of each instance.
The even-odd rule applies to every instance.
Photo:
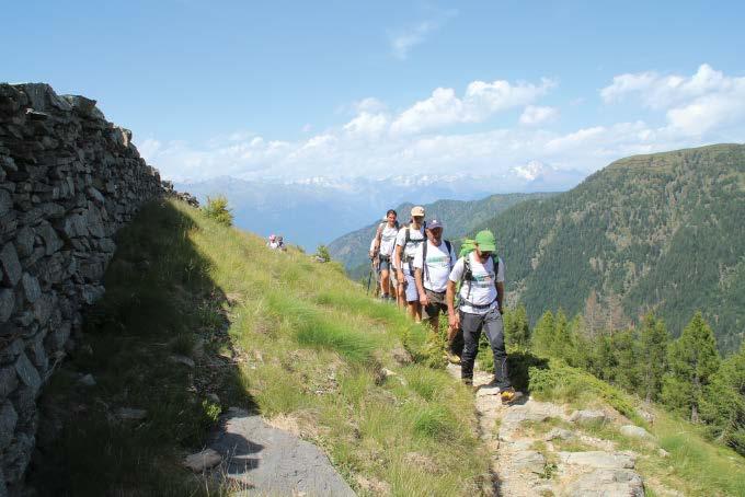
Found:
[[[466,243],[463,244],[466,246]],[[458,328],[463,334],[460,378],[473,384],[473,362],[483,331],[494,355],[494,378],[489,386],[497,386],[503,402],[512,402],[515,390],[509,383],[507,351],[504,345],[504,263],[496,255],[496,241],[489,230],[477,233],[472,250],[450,271],[447,285],[448,335]],[[455,307],[456,284],[460,282],[459,309]]]

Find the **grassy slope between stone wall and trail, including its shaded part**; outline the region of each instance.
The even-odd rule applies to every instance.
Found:
[[[470,392],[444,371],[396,362],[402,343],[424,349],[424,332],[337,265],[270,252],[163,203],[121,233],[106,288],[83,346],[45,394],[47,411],[73,418],[32,472],[43,493],[208,493],[177,461],[203,447],[217,393],[222,408],[254,409],[318,443],[363,494],[478,494],[488,459]],[[76,372],[98,385],[76,385]],[[112,421],[123,406],[148,417]]]

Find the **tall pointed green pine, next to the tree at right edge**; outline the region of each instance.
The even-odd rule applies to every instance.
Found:
[[[711,327],[697,312],[667,355],[669,372],[663,381],[663,402],[699,421],[703,391],[719,369],[719,352]]]

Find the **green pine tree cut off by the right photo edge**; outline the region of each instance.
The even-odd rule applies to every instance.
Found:
[[[722,362],[701,405],[714,437],[745,455],[745,344]]]

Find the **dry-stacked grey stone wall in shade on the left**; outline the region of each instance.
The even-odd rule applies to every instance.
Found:
[[[114,233],[161,193],[95,101],[0,84],[0,496],[23,477],[36,398],[103,292]]]

